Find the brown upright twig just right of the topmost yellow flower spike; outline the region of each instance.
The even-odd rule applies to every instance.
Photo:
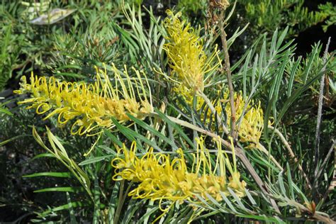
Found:
[[[235,93],[233,91],[233,80],[231,77],[231,69],[230,69],[230,57],[229,57],[229,52],[228,52],[228,41],[226,40],[226,33],[224,30],[224,16],[225,16],[225,11],[222,10],[220,11],[220,15],[218,17],[218,23],[219,23],[219,29],[220,29],[220,39],[222,40],[222,45],[223,45],[223,52],[225,55],[225,72],[226,72],[226,77],[228,79],[228,86],[229,86],[229,91],[230,91],[230,108],[231,108],[231,130],[230,130],[230,135],[233,137],[233,140],[237,139],[237,132],[235,130]]]

